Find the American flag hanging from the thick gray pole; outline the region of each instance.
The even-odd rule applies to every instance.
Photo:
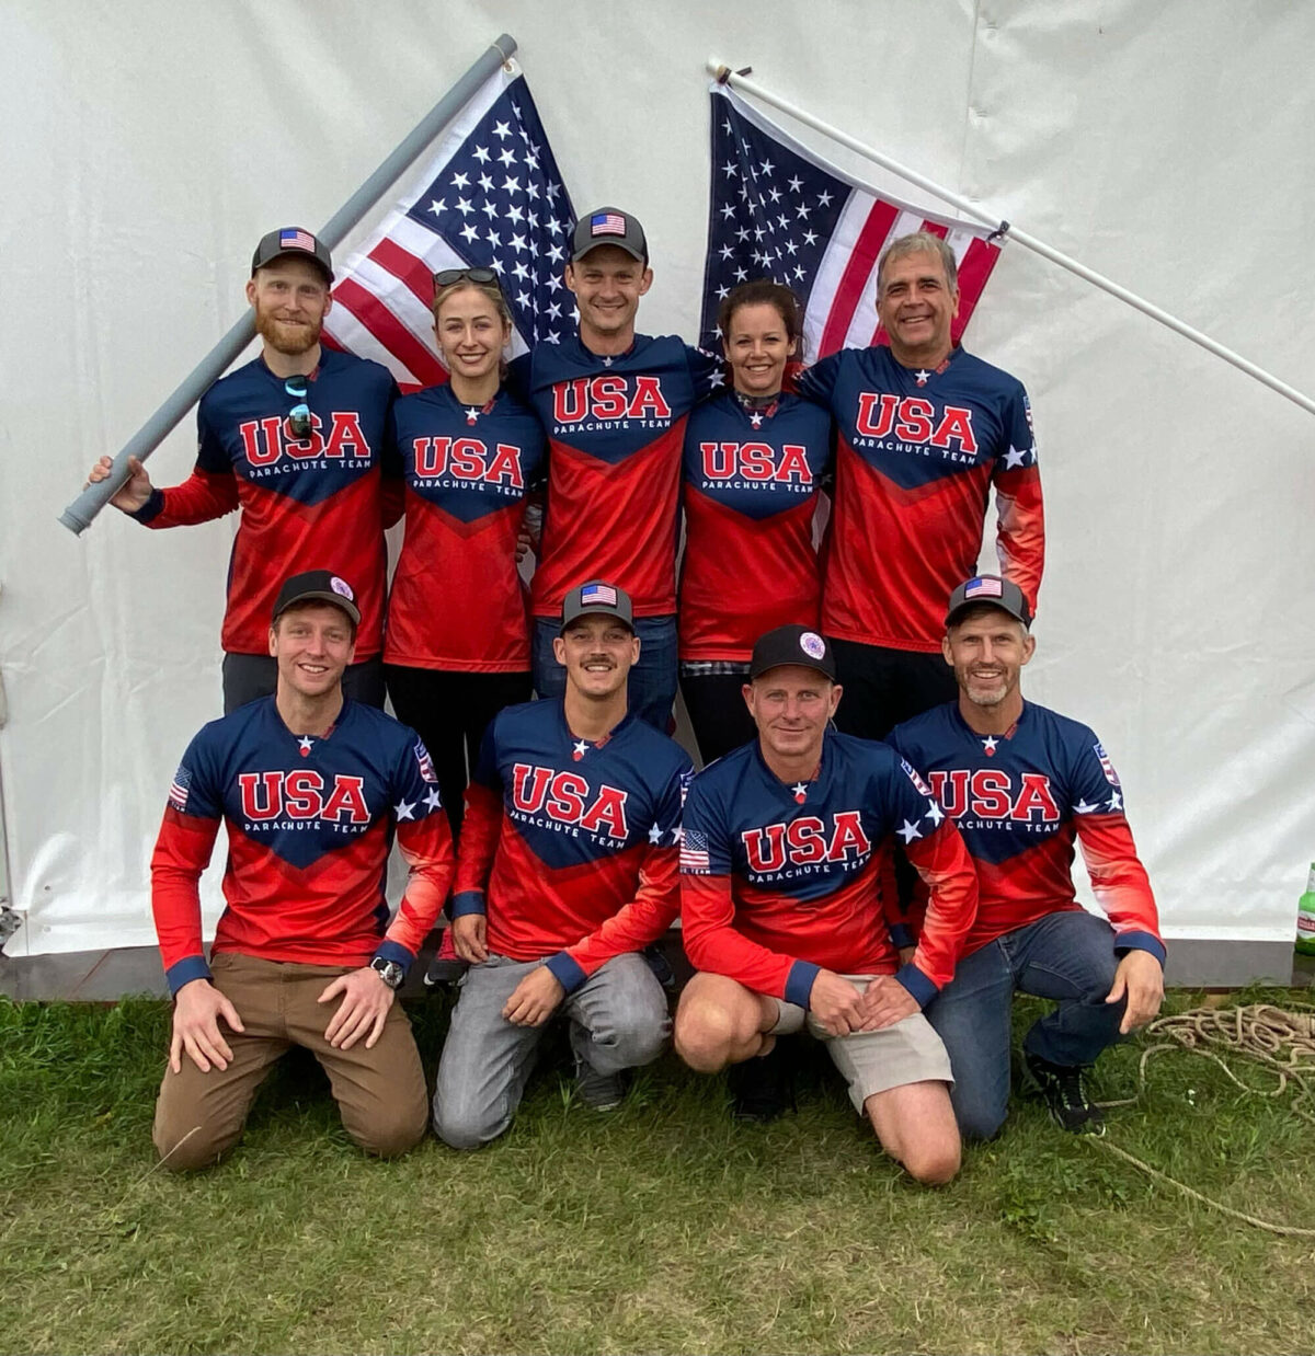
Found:
[[[498,273],[513,354],[556,343],[573,324],[562,270],[575,213],[525,77],[508,66],[457,114],[334,286],[326,340],[384,363],[403,391],[448,380],[429,309],[444,268]]]

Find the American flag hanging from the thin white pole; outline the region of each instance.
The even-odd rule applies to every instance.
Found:
[[[950,221],[878,194],[821,160],[723,85],[712,87],[712,187],[703,274],[702,343],[719,350],[717,308],[741,282],[772,278],[803,302],[806,361],[883,343],[877,259],[912,231],[931,231],[959,271],[958,343],[999,258],[988,228]]]

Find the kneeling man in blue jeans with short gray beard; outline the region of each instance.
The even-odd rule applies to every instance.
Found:
[[[1018,584],[978,575],[950,597],[942,641],[958,700],[905,721],[894,749],[920,767],[977,865],[980,906],[954,982],[927,1009],[954,1066],[965,1135],[989,1139],[1010,1097],[1014,991],[1057,1001],[1023,1037],[1027,1070],[1068,1131],[1102,1128],[1084,1077],[1164,997],[1155,896],[1095,734],[1023,701],[1031,609]],[[1097,903],[1073,892],[1082,848]],[[902,944],[913,937],[897,936]]]

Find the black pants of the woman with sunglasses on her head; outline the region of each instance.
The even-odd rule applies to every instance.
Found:
[[[468,674],[384,664],[384,677],[398,720],[425,740],[442,808],[453,835],[460,834],[468,770],[475,770],[484,730],[503,706],[529,701],[529,674]]]

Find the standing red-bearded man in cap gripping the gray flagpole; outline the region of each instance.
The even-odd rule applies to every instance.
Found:
[[[201,397],[191,476],[157,490],[133,458],[110,500],[149,527],[242,510],[221,636],[225,712],[274,692],[270,609],[282,579],[311,568],[357,582],[361,628],[343,689],[384,701],[380,456],[396,385],[377,362],[320,346],[332,281],[328,250],[309,231],[263,236],[247,283],[261,353]],[[109,472],[102,457],[91,480]]]

